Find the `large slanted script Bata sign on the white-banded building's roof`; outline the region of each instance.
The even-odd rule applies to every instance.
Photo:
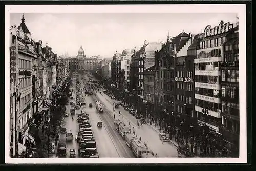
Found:
[[[228,30],[233,28],[233,24],[230,24],[229,22],[227,22],[225,24],[223,24],[223,23],[224,22],[221,21],[219,26],[215,26],[213,28],[211,28],[210,25],[206,26],[204,29],[204,37],[226,33]]]

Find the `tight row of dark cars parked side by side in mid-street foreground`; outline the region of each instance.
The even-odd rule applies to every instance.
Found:
[[[98,158],[99,153],[96,148],[96,141],[93,136],[93,130],[87,113],[77,114],[77,122],[79,123],[79,131],[76,140],[79,143],[79,157]]]

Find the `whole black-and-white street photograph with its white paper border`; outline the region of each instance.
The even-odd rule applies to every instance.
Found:
[[[5,13],[6,163],[246,163],[245,5]]]

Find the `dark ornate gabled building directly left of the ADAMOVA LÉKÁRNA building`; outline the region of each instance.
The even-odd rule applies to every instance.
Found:
[[[158,118],[170,123],[174,116],[174,66],[175,44],[167,39],[159,51],[155,52],[155,98],[153,120]]]

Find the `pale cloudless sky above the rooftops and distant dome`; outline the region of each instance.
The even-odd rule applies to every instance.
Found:
[[[87,57],[110,58],[117,51],[140,49],[143,41],[166,42],[183,32],[198,34],[207,25],[236,23],[236,13],[24,13],[35,42],[46,42],[58,56],[76,56],[80,46]],[[22,13],[10,14],[10,26]]]

